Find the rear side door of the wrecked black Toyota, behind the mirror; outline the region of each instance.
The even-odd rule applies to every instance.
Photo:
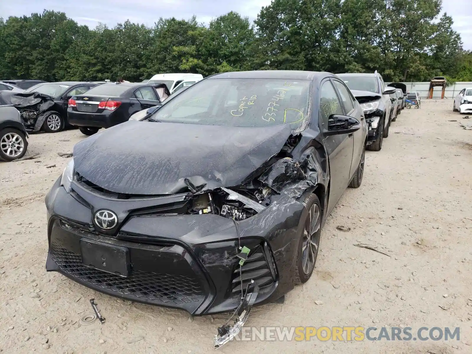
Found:
[[[351,91],[346,87],[346,84],[337,79],[331,80],[333,81],[334,87],[343,104],[344,114],[346,116],[356,118],[361,122],[361,129],[355,131],[354,133],[348,134],[349,137],[354,139],[353,157],[351,161],[351,170],[349,172],[350,180],[359,166],[359,161],[362,157],[362,152],[365,145],[365,137],[367,136],[367,124],[365,123],[364,111],[362,110],[361,106],[357,104]]]

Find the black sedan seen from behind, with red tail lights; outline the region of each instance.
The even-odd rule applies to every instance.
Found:
[[[85,135],[126,122],[134,113],[160,105],[169,90],[143,83],[109,83],[69,100],[67,118]],[[162,97],[161,97],[162,96]]]

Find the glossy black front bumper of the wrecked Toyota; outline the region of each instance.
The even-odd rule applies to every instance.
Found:
[[[151,201],[175,206],[176,196]],[[94,207],[92,207],[94,205]],[[93,228],[92,213],[105,208],[123,220],[116,233]],[[283,205],[283,207],[281,207]],[[49,254],[46,270],[105,294],[185,310],[192,315],[228,312],[254,280],[256,304],[277,300],[294,287],[295,255],[306,213],[302,203],[281,196],[265,211],[243,221],[206,215],[143,216],[150,200],[103,198],[59,180],[46,196]],[[126,277],[83,263],[83,244],[126,250]],[[239,246],[251,249],[243,267]],[[90,257],[90,254],[88,254]],[[112,260],[113,261],[113,260]],[[117,267],[123,260],[116,260]],[[118,264],[119,263],[119,264]]]

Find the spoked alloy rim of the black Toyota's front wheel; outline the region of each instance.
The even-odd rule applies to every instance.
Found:
[[[310,274],[315,266],[320,244],[321,215],[318,204],[313,204],[303,230],[302,265],[303,273]]]

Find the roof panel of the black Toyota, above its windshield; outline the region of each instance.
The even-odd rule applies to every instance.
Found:
[[[302,71],[302,70],[254,70],[254,71],[233,71],[210,76],[210,79],[237,78],[237,79],[295,79],[313,80],[315,77],[332,76],[334,74],[322,71]]]

